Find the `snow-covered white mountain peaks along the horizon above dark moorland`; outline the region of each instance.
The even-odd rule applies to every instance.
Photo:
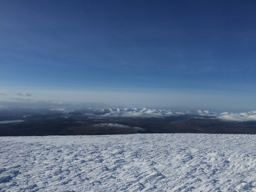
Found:
[[[138,117],[138,118],[163,118],[170,116],[191,116],[193,118],[205,118],[205,119],[216,119],[223,121],[234,121],[234,122],[244,122],[244,121],[256,121],[256,111],[250,111],[247,113],[216,113],[209,110],[192,110],[188,112],[178,112],[174,110],[158,110],[158,109],[148,109],[148,108],[110,108],[110,109],[92,109],[86,107],[67,107],[67,108],[56,108],[50,109],[51,112],[61,112],[61,113],[71,113],[79,112],[86,113],[92,116],[99,117]]]

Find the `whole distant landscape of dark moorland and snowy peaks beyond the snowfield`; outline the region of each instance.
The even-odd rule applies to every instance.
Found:
[[[235,114],[83,106],[0,110],[0,136],[135,133],[256,134],[256,111]]]

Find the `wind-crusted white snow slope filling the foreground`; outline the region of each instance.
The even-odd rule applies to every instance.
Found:
[[[256,135],[0,138],[0,191],[256,191]]]

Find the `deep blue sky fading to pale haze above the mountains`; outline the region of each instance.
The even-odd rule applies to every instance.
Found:
[[[0,100],[255,110],[255,10],[255,0],[1,0]]]

